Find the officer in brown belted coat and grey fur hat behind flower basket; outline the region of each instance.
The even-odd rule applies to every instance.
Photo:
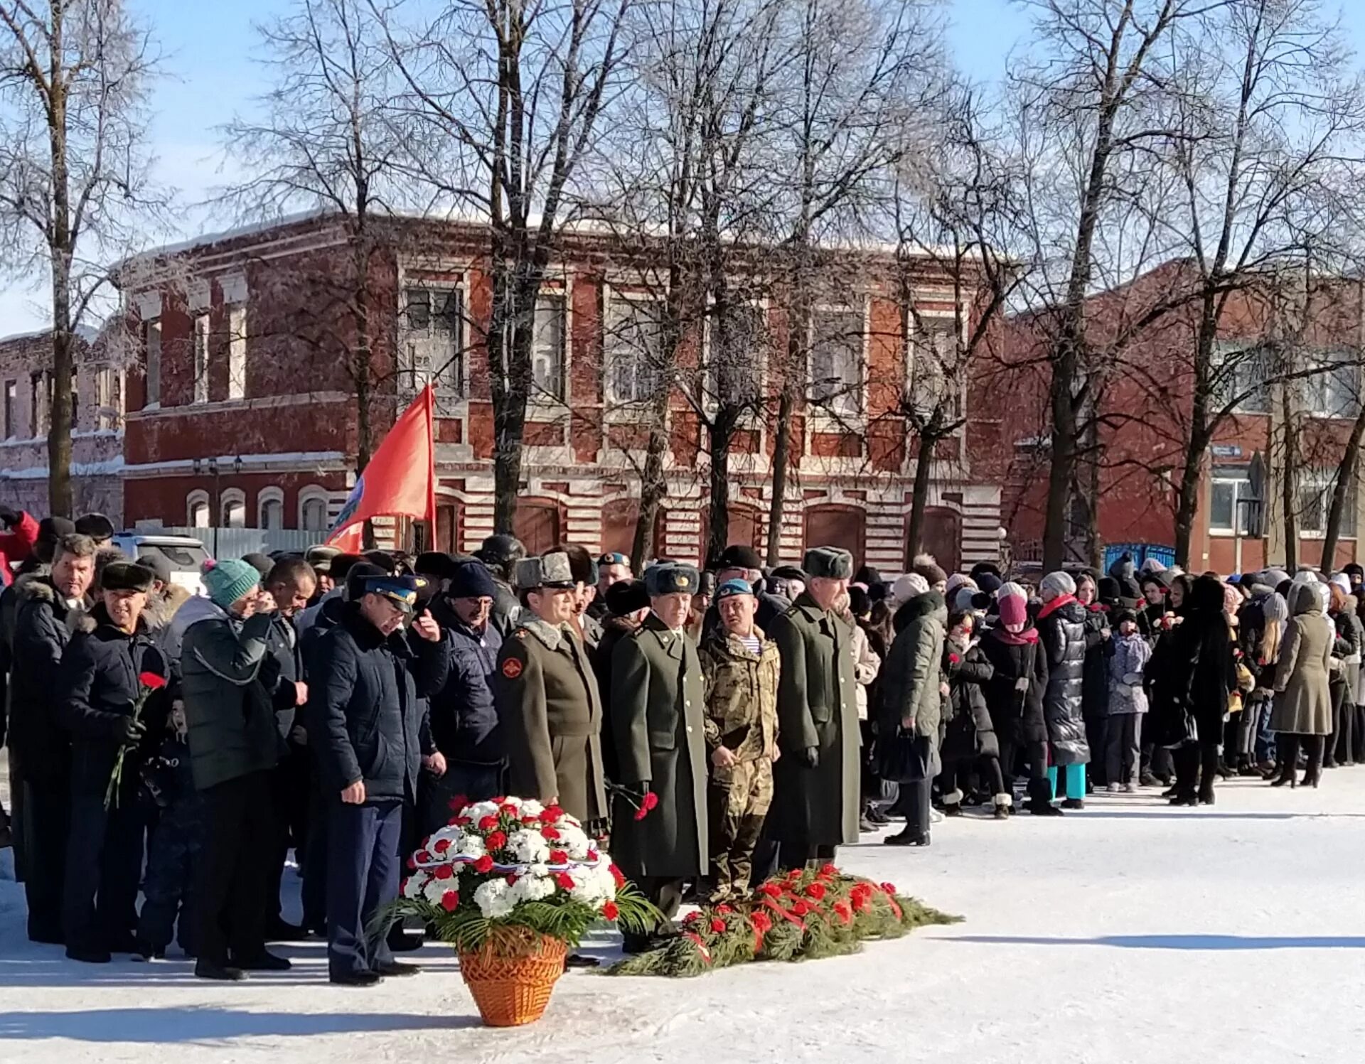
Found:
[[[602,703],[587,649],[569,626],[577,581],[568,555],[523,558],[513,580],[523,608],[493,674],[509,791],[556,802],[583,824],[603,820]]]

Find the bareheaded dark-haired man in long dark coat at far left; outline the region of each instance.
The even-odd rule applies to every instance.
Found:
[[[48,576],[14,588],[10,750],[23,768],[25,892],[29,939],[61,944],[61,889],[71,821],[71,737],[57,722],[61,656],[71,627],[90,607],[94,542],[75,533],[56,546]]]

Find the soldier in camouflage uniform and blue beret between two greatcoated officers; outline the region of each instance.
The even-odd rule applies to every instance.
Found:
[[[753,847],[773,803],[781,655],[753,623],[752,585],[728,580],[715,603],[721,623],[703,640],[700,657],[711,756],[711,899],[721,902],[748,893]]]

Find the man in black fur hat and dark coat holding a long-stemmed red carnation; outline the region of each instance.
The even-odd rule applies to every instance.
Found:
[[[101,602],[81,618],[61,656],[57,715],[72,737],[61,922],[72,960],[108,963],[112,952],[136,952],[146,831],[138,748],[149,724],[154,733],[164,727],[160,692],[171,674],[142,619],[154,580],[141,565],[106,565]]]

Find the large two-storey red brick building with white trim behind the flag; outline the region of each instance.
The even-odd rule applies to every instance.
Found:
[[[427,379],[435,383],[442,550],[472,550],[493,531],[493,413],[480,342],[491,299],[486,247],[476,225],[394,220],[367,265],[377,438]],[[221,521],[318,533],[329,525],[354,483],[358,443],[344,366],[351,318],[337,310],[337,293],[355,291],[347,280],[352,259],[345,220],[315,214],[124,263],[126,312],[141,337],[127,387],[128,524]],[[894,411],[917,342],[932,340],[906,342],[906,315],[891,295],[904,289],[889,281],[894,263],[890,252],[850,252],[854,280],[816,311],[814,382],[804,390],[833,398],[799,404],[793,417],[784,561],[797,561],[807,543],[839,543],[883,573],[905,567],[913,458]],[[531,550],[558,542],[628,550],[640,411],[655,393],[639,351],[652,342],[648,307],[661,296],[637,252],[603,233],[566,236],[550,276],[536,307],[516,532]],[[910,291],[921,321],[951,330],[953,288],[928,259]],[[764,299],[748,312],[758,323],[751,336],[764,338],[749,344],[747,386],[773,398],[779,382],[766,351],[785,349],[785,322]],[[688,344],[693,370],[707,342],[700,336]],[[670,434],[654,547],[696,559],[707,454],[695,405],[681,394]],[[732,542],[764,542],[773,439],[771,413],[748,419],[737,434]],[[977,473],[971,441],[960,432],[940,449],[928,499],[928,546],[953,566],[995,558],[999,547],[999,483]]]

